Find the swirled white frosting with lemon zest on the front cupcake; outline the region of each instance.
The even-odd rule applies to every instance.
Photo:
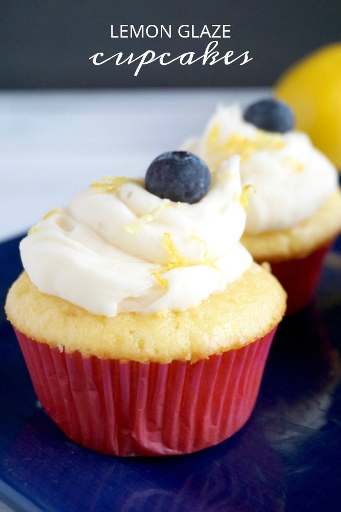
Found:
[[[197,306],[252,263],[239,243],[246,220],[239,160],[225,162],[207,195],[192,205],[160,199],[133,182],[110,193],[86,189],[22,240],[31,281],[98,315]],[[151,212],[157,215],[139,221]],[[185,266],[173,264],[179,259]]]

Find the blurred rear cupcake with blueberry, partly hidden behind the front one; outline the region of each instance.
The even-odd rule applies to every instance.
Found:
[[[309,137],[293,130],[282,102],[259,101],[245,112],[220,108],[203,135],[185,142],[211,169],[241,156],[249,195],[242,243],[256,262],[268,262],[288,293],[287,312],[307,306],[324,256],[341,231],[337,170]]]

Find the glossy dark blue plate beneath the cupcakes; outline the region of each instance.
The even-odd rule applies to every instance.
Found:
[[[327,258],[316,303],[279,327],[244,428],[193,455],[149,459],[86,450],[37,407],[2,308],[20,267],[18,239],[0,245],[0,497],[18,510],[49,512],[340,510],[336,252]]]

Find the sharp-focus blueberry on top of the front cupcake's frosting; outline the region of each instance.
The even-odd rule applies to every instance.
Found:
[[[197,203],[207,193],[211,173],[206,163],[189,151],[170,151],[156,157],[145,178],[148,192],[162,199]]]

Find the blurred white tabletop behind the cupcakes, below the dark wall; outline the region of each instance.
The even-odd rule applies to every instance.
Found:
[[[143,175],[219,103],[268,89],[0,93],[0,241],[105,175]]]

